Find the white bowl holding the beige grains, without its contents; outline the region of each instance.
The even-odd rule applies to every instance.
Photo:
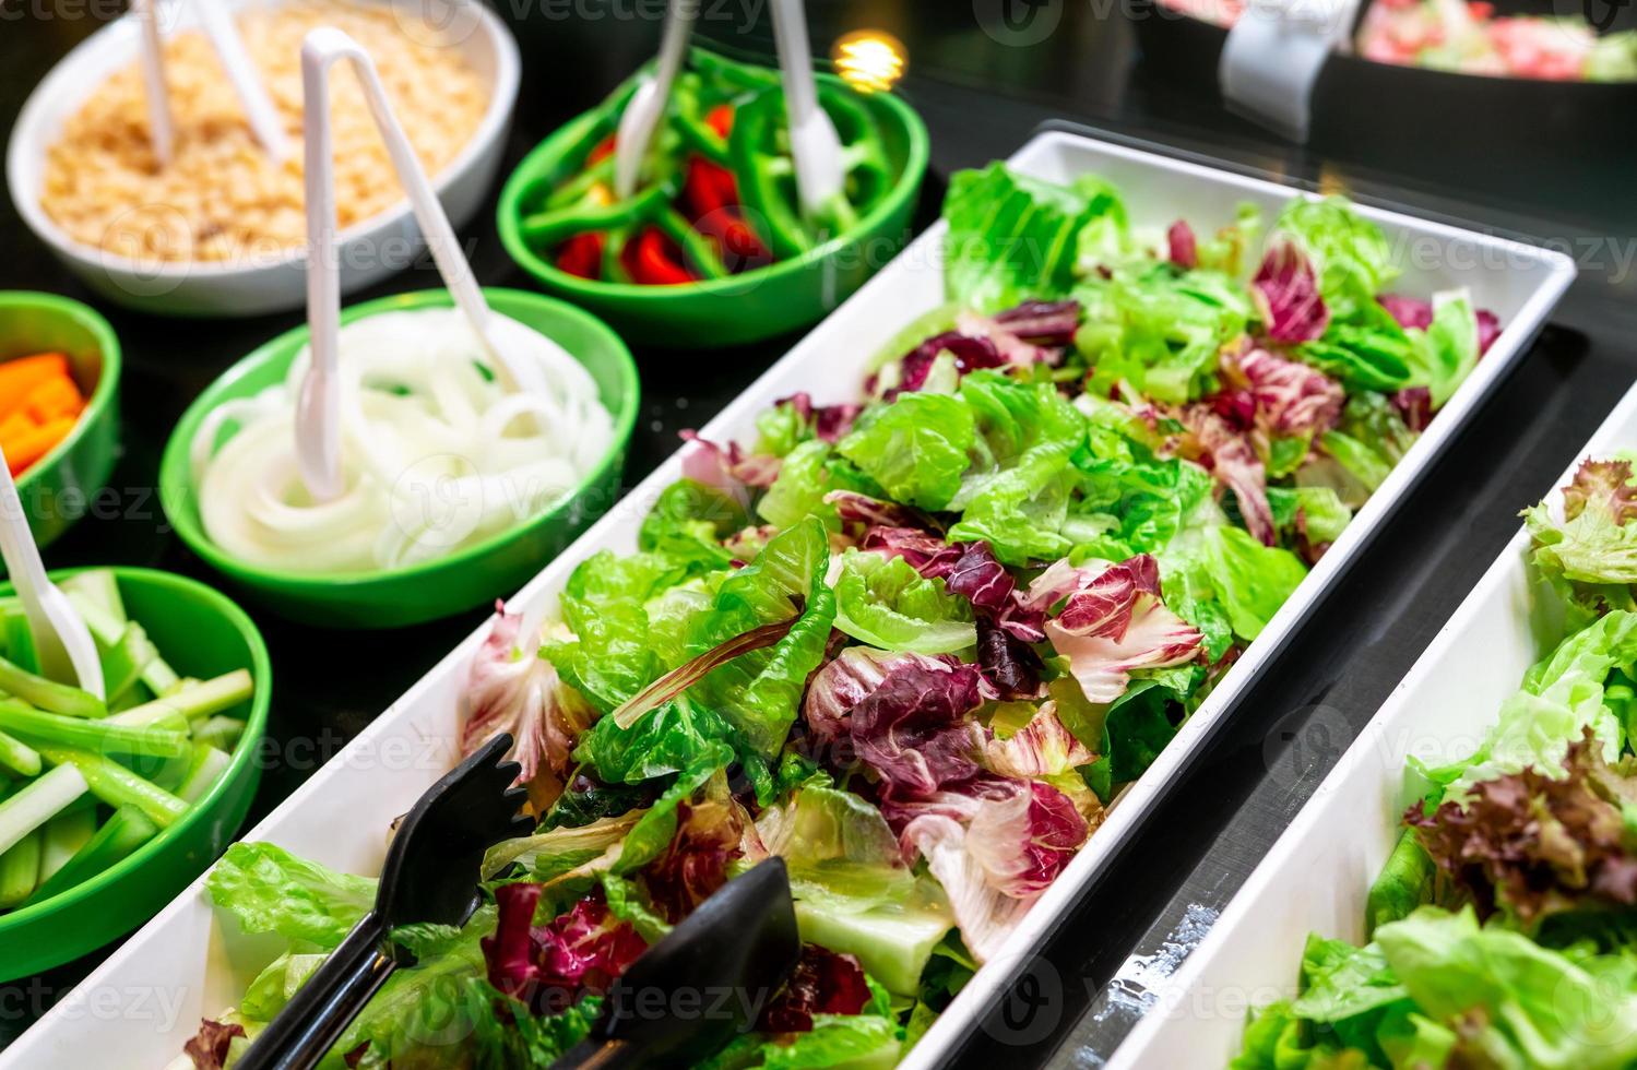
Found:
[[[223,0],[208,0],[219,3]],[[357,0],[355,0],[357,2]],[[476,214],[494,182],[506,149],[506,133],[517,101],[517,41],[478,0],[365,0],[403,5],[435,26],[445,26],[462,56],[483,79],[488,110],[471,141],[437,175],[434,188],[457,227]],[[277,7],[278,0],[226,0],[232,10]],[[192,5],[165,31],[196,23]],[[62,124],[113,72],[136,61],[138,26],[131,16],[87,38],[29,95],[11,129],[7,185],[18,214],[57,259],[87,286],[116,304],[167,316],[254,316],[283,312],[306,303],[306,250],[259,257],[254,265],[196,262],[138,262],[69,237],[39,206],[46,149]],[[300,144],[295,146],[300,152]],[[340,291],[352,293],[408,267],[424,247],[409,201],[340,232]]]

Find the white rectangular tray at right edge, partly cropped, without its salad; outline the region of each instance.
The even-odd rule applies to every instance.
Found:
[[[1637,448],[1637,386],[1627,391],[1547,496],[1586,456]],[[1524,491],[1527,492],[1527,491]],[[1517,507],[1534,504],[1519,501]],[[1524,672],[1563,638],[1562,605],[1527,566],[1519,530],[1369,726],[1319,784],[1211,933],[1170,977],[1108,1060],[1134,1067],[1226,1067],[1249,1008],[1297,996],[1308,933],[1362,942],[1365,897],[1403,829],[1406,761],[1472,754]]]

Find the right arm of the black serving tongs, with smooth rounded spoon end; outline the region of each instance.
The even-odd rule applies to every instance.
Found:
[[[784,859],[706,900],[609,988],[591,1036],[552,1070],[686,1067],[751,1024],[802,954]]]

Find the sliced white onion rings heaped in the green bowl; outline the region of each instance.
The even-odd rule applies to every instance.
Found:
[[[314,502],[295,458],[283,383],[218,406],[188,443],[205,532],[226,553],[291,573],[372,573],[431,561],[539,515],[607,452],[596,381],[517,321],[501,344],[545,371],[545,394],[507,393],[455,309],[383,312],[340,329],[342,484]]]

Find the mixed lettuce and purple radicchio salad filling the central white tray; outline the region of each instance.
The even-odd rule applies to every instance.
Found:
[[[1269,625],[1478,363],[1493,316],[1391,291],[1342,200],[1134,226],[1097,177],[954,175],[949,303],[858,393],[691,435],[634,553],[501,615],[467,749],[539,818],[493,901],[403,933],[352,1067],[547,1065],[735,874],[786,861],[807,949],[715,1067],[891,1065]],[[231,1065],[368,908],[272,844],[208,880],[288,952],[205,1023]]]

